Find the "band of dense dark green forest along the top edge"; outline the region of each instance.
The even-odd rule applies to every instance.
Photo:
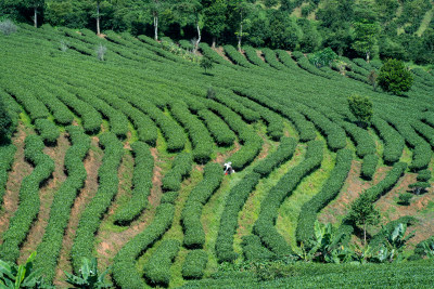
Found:
[[[36,26],[417,64],[434,64],[432,10],[430,0],[0,0],[0,19]]]

